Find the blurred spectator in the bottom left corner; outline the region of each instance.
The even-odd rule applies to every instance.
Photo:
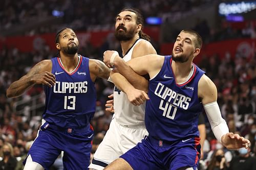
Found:
[[[5,143],[2,148],[3,160],[0,162],[0,170],[13,170],[17,160],[13,156],[13,148],[10,143]]]

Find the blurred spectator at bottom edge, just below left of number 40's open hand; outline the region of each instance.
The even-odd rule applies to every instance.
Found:
[[[226,170],[226,159],[222,149],[215,150],[211,156],[207,170]]]

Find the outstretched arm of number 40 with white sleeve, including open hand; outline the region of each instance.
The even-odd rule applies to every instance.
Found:
[[[221,116],[217,103],[217,88],[215,84],[205,75],[198,84],[198,96],[202,100],[211,130],[215,137],[227,149],[248,148],[250,141],[238,134],[229,133],[226,121]]]

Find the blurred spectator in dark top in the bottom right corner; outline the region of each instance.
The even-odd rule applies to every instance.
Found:
[[[230,170],[255,170],[256,158],[250,155],[250,148],[240,148],[239,155],[230,162]]]

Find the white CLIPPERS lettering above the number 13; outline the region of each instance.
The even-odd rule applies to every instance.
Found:
[[[53,86],[54,93],[87,93],[88,82],[58,82]]]

